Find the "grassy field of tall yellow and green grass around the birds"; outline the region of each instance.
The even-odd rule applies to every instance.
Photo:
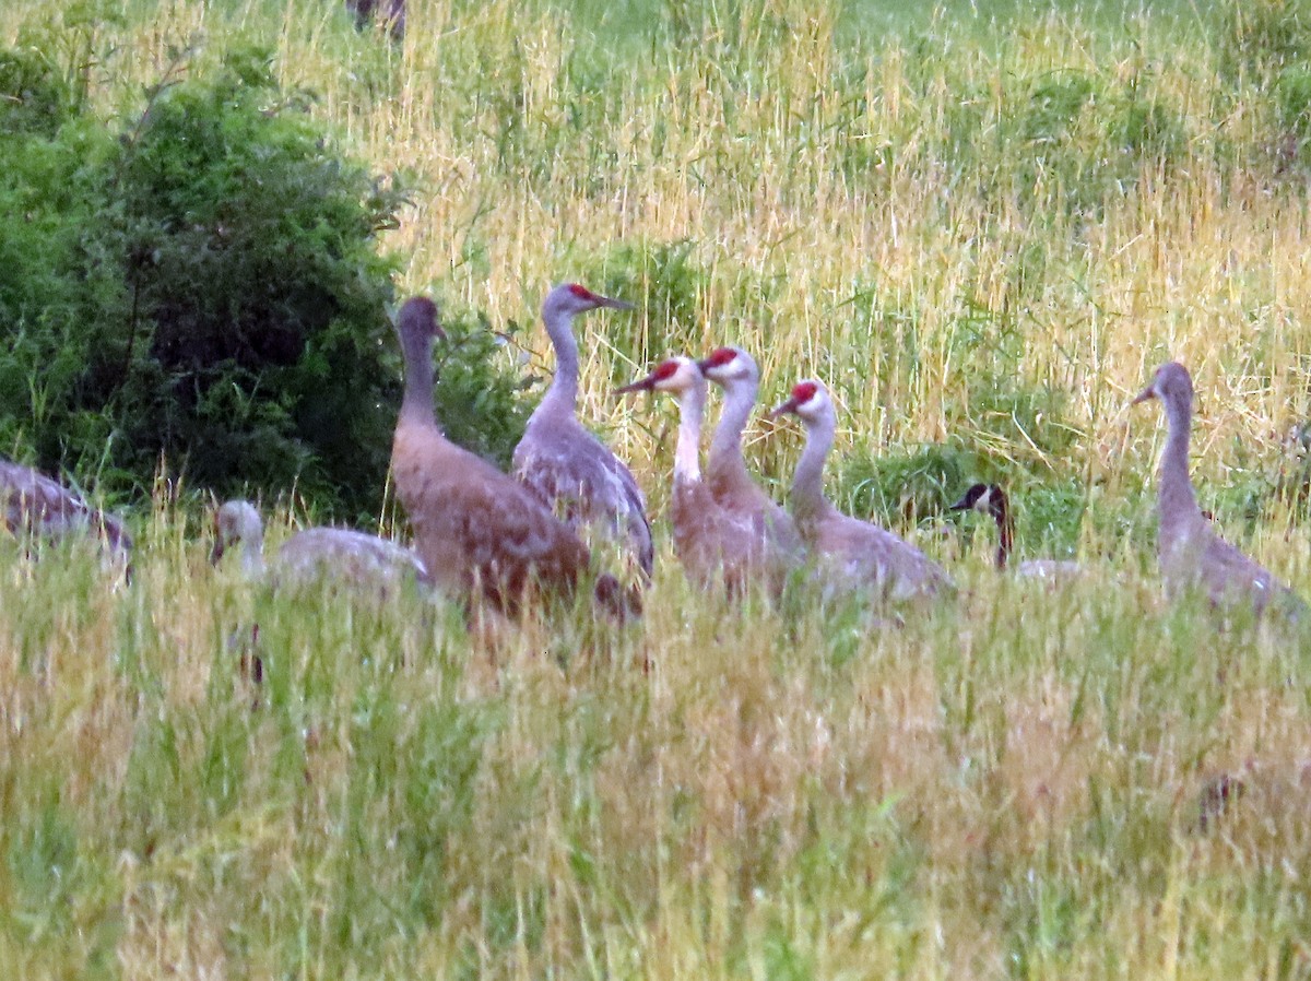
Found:
[[[1202,505],[1311,595],[1307,9],[410,4],[396,47],[330,0],[10,0],[0,39],[73,25],[106,115],[180,46],[270,45],[413,188],[402,292],[543,371],[552,282],[638,304],[582,321],[582,414],[654,513],[670,407],[610,390],[742,344],[766,400],[831,384],[834,496],[961,595],[729,607],[662,529],[641,624],[489,647],[212,571],[164,488],[130,588],[0,540],[0,974],[1311,976],[1311,637],[1164,603],[1164,428],[1127,409],[1193,369]],[[798,446],[753,430],[780,493]],[[940,514],[975,477],[1089,574],[998,574]]]

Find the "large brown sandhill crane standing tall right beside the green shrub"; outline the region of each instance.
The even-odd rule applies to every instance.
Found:
[[[442,433],[433,408],[437,306],[416,296],[397,324],[405,355],[405,396],[392,442],[396,493],[433,581],[451,595],[485,598],[514,610],[535,589],[572,594],[591,564],[587,547],[526,487]],[[623,615],[625,597],[611,576],[595,595]]]

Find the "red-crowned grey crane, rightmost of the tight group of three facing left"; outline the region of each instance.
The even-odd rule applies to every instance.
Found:
[[[792,413],[806,428],[806,447],[792,479],[792,517],[826,586],[873,589],[890,599],[932,595],[953,588],[950,577],[891,531],[842,514],[823,493],[823,466],[836,420],[821,382],[797,383],[773,416]]]

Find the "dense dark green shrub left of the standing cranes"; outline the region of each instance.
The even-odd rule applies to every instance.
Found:
[[[399,191],[326,146],[260,52],[114,134],[0,55],[0,446],[148,485],[380,504],[399,392],[375,248]],[[106,449],[108,447],[108,449]]]

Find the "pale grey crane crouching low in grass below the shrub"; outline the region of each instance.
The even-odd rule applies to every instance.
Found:
[[[227,501],[214,517],[215,540],[210,560],[239,548],[241,568],[252,577],[265,574],[264,522],[249,501]],[[305,529],[278,550],[270,563],[274,585],[300,585],[320,578],[338,580],[385,594],[406,577],[427,582],[423,563],[409,548],[378,535],[349,529]]]

